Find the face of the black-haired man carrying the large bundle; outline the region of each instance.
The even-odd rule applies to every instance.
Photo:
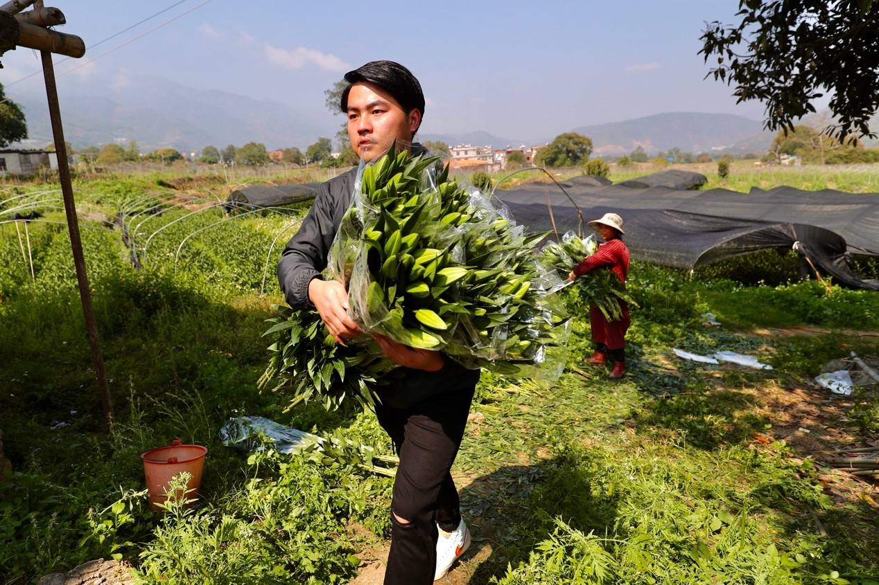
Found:
[[[360,158],[371,161],[397,140],[411,141],[421,112],[407,115],[387,91],[372,83],[354,83],[348,92],[348,140]]]

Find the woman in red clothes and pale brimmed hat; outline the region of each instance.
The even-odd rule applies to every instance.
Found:
[[[605,213],[600,220],[590,221],[589,225],[604,239],[599,249],[578,264],[568,275],[569,280],[581,277],[593,270],[614,271],[617,278],[625,283],[628,275],[628,248],[622,241],[622,218],[616,213]],[[595,342],[595,353],[586,361],[601,365],[607,358],[614,360],[614,371],[610,377],[622,378],[626,373],[626,331],[628,330],[628,306],[620,300],[622,318],[607,321],[599,307],[589,307],[589,321],[592,323],[592,341]]]

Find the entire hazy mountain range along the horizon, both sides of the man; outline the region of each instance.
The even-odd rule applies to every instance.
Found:
[[[94,88],[106,87],[98,93]],[[45,94],[9,91],[22,105],[31,139],[28,148],[51,141]],[[269,149],[305,148],[320,136],[332,137],[339,119],[323,109],[297,108],[280,99],[247,97],[230,91],[202,90],[160,77],[126,83],[73,86],[62,94],[65,135],[75,148],[109,142],[137,141],[142,151],[172,147],[197,151],[208,144],[262,142]],[[665,112],[606,124],[572,127],[592,139],[595,155],[623,155],[641,146],[648,154],[681,148],[698,152],[761,152],[773,133],[762,123],[735,114]],[[554,136],[507,137],[485,131],[419,134],[420,141],[447,144],[490,144],[494,148],[545,144]]]

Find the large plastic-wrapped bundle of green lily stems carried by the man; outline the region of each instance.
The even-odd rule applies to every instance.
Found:
[[[538,262],[543,237],[526,235],[505,209],[449,178],[439,157],[390,152],[361,168],[327,276],[345,284],[349,313],[368,335],[441,350],[470,368],[552,379],[563,369],[569,329],[550,293],[561,279]],[[365,373],[371,388],[391,369],[368,336],[350,350],[331,347],[323,330],[294,340],[297,328],[282,324],[303,318],[319,322],[289,313],[270,329],[277,339],[264,385],[290,379],[295,393],[309,392],[301,374],[314,381],[323,364],[310,391],[338,404],[352,377]],[[326,358],[345,351],[349,371]]]

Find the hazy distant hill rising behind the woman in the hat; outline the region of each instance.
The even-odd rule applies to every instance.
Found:
[[[758,120],[735,114],[672,112],[579,126],[571,132],[591,138],[597,155],[625,155],[639,145],[648,154],[674,147],[694,153],[716,152],[759,134],[761,128]]]

